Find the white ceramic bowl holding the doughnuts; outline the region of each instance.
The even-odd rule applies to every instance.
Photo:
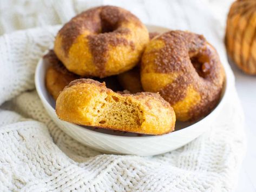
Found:
[[[166,32],[169,29],[147,25],[149,31]],[[52,120],[66,134],[75,140],[87,145],[95,150],[113,154],[131,155],[157,155],[182,147],[191,142],[196,137],[207,131],[211,123],[216,120],[222,105],[227,99],[228,78],[217,107],[206,117],[195,123],[176,122],[175,131],[165,135],[138,135],[134,133],[124,133],[107,129],[95,129],[61,121],[55,113],[55,101],[48,94],[45,88],[45,71],[49,66],[40,59],[36,68],[35,84],[38,95],[40,96],[44,108]]]

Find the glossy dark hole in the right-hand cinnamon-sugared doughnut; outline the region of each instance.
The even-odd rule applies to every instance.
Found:
[[[195,68],[195,71],[198,73],[198,75],[202,78],[205,78],[207,74],[209,74],[210,65],[207,59],[204,59],[199,56],[193,56],[190,58],[191,63],[193,64],[193,67]]]

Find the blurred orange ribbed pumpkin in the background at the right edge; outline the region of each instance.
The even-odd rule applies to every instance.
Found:
[[[256,1],[235,1],[226,27],[229,57],[247,74],[256,75]]]

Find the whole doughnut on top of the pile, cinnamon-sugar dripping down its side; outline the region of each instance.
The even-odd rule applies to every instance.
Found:
[[[148,41],[139,18],[116,6],[99,6],[66,23],[54,51],[69,71],[103,78],[132,69]]]

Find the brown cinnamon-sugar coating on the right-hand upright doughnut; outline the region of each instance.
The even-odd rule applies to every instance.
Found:
[[[193,85],[201,102],[189,112],[191,120],[208,114],[219,101],[225,76],[216,50],[204,36],[192,32],[169,31],[156,39],[165,46],[150,53],[154,54],[155,71],[180,74],[159,91],[160,95],[174,105],[186,97],[188,86]]]

